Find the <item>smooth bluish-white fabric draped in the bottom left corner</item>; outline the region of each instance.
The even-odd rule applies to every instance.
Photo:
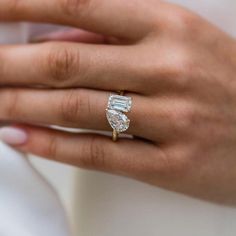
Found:
[[[53,188],[28,159],[0,143],[0,235],[69,236]]]

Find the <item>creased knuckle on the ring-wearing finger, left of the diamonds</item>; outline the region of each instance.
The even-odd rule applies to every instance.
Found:
[[[72,90],[67,92],[62,99],[60,113],[62,121],[66,123],[84,123],[90,113],[91,102],[86,92]]]

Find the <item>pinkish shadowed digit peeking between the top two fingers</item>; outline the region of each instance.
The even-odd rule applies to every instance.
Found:
[[[48,34],[38,35],[30,40],[31,43],[42,43],[48,41],[67,41],[79,43],[106,43],[106,37],[80,29],[55,31]]]

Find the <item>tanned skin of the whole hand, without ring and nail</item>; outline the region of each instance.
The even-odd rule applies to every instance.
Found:
[[[236,203],[235,39],[156,0],[3,0],[0,20],[79,29],[1,46],[0,120],[28,134],[16,148]],[[127,133],[134,138],[114,143],[93,130],[111,131],[105,109],[118,90],[133,99]]]

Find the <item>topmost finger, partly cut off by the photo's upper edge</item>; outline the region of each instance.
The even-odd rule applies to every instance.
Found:
[[[118,37],[140,37],[150,26],[145,1],[126,0],[2,0],[0,20],[70,24]],[[153,11],[151,11],[153,12]],[[149,27],[150,28],[150,27]]]

